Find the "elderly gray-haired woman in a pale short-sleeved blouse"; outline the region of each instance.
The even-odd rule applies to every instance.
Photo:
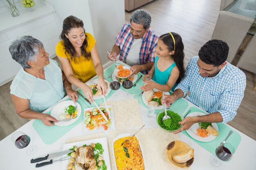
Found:
[[[76,102],[76,92],[57,62],[49,59],[39,40],[22,36],[11,43],[9,51],[13,60],[22,66],[10,87],[16,113],[22,118],[40,119],[46,126],[53,126],[50,121],[58,120],[42,112],[61,100],[65,90]]]

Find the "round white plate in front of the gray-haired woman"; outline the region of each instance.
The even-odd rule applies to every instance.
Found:
[[[55,119],[59,120],[60,114],[65,113],[65,108],[67,108],[69,105],[74,106],[74,102],[72,100],[66,100],[66,101],[63,101],[63,102],[57,104],[52,109],[51,116],[54,117]],[[66,122],[59,121],[58,123],[55,123],[55,125],[57,125],[57,126],[67,126],[67,125],[70,125],[70,124],[74,123],[75,121],[77,121],[79,119],[80,115],[81,115],[82,108],[81,108],[80,104],[77,103],[77,102],[76,102],[76,106],[77,106],[77,114],[76,114],[77,117],[75,119],[70,119],[70,121],[66,121]]]

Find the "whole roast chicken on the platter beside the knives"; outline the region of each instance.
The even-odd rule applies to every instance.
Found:
[[[98,170],[91,146],[79,147],[76,150],[76,170]]]

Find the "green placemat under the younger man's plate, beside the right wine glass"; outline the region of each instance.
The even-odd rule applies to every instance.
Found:
[[[189,109],[191,110],[191,113],[201,112],[201,113],[207,114],[207,112],[200,110],[197,107],[191,107]],[[195,141],[197,144],[202,146],[204,149],[208,150],[211,154],[216,155],[216,153],[215,153],[216,148],[220,145],[220,143],[222,141],[224,141],[226,139],[227,135],[229,134],[229,131],[232,130],[231,128],[229,128],[227,125],[225,125],[223,123],[217,123],[217,125],[218,125],[218,129],[219,129],[219,135],[213,141],[210,141],[210,142],[197,141],[194,138],[192,138],[191,136],[189,136],[189,134],[185,130],[182,131],[182,133],[184,135],[188,136],[189,138],[191,138],[193,141]],[[235,130],[232,130],[232,131],[233,131],[233,133],[227,139],[227,143],[230,143],[236,150],[241,141],[241,136]]]

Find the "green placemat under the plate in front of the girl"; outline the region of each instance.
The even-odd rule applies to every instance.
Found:
[[[135,94],[134,98],[137,98],[138,101],[139,101],[139,104],[141,104],[142,106],[144,106],[145,108],[148,108],[148,106],[146,104],[144,104],[143,100],[142,100],[142,95],[139,96],[139,94],[141,93],[142,91],[139,91],[137,94]],[[177,110],[177,111],[180,111],[180,113],[183,113],[186,108],[189,106],[189,103],[184,100],[184,99],[177,99],[172,105],[171,107],[169,107],[170,109],[173,109],[173,110]],[[157,114],[159,112],[159,109],[156,109],[155,110],[155,114]]]

